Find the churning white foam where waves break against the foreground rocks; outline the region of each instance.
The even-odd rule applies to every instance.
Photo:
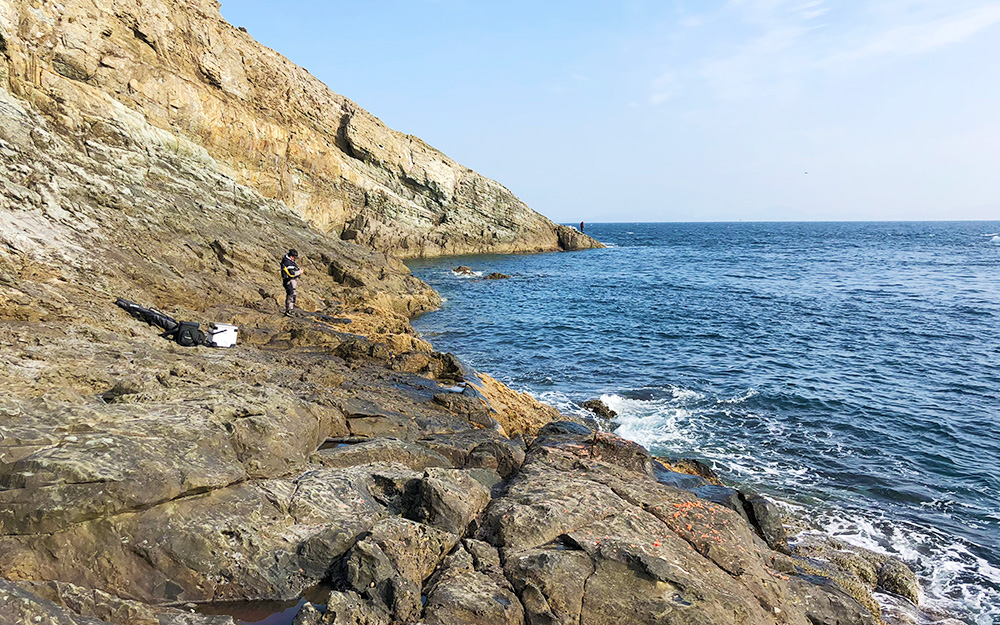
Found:
[[[771,456],[768,450],[751,448],[749,442],[721,429],[720,414],[735,422],[760,420],[772,436],[785,429],[785,424],[766,415],[733,408],[757,395],[755,389],[729,399],[712,399],[679,387],[664,390],[670,394],[659,399],[602,395],[601,400],[618,413],[616,433],[647,449],[676,454],[693,452],[710,464],[717,463],[737,481],[769,484],[799,493],[810,486],[822,490],[811,469]],[[924,603],[929,609],[962,615],[976,625],[1000,623],[1000,569],[976,556],[955,537],[865,510],[810,506],[800,512],[816,519],[824,534],[909,564],[921,580]]]

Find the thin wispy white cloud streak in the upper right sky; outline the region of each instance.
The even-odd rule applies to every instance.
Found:
[[[689,39],[686,69],[670,62],[669,89],[663,74],[649,80],[650,104],[699,83],[720,99],[790,94],[817,71],[853,72],[876,58],[933,53],[1000,24],[1000,2],[730,0],[677,26],[695,24],[702,38]]]

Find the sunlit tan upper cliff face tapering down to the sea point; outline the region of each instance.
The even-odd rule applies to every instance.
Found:
[[[203,146],[237,182],[313,226],[397,256],[600,246],[387,128],[225,22],[218,7],[4,3],[0,84],[70,131],[134,138],[149,132],[138,117]]]

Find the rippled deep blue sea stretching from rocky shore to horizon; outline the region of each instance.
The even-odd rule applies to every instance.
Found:
[[[607,249],[410,263],[416,328],[700,458],[1000,623],[998,222],[592,224]],[[460,277],[458,265],[513,275]]]

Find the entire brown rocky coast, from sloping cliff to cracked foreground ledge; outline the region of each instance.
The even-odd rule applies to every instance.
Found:
[[[0,5],[0,623],[877,623],[895,560],[435,352],[400,257],[599,245],[208,1]],[[281,253],[303,253],[284,317]],[[180,347],[114,305],[234,323]],[[701,473],[701,475],[699,475]]]

